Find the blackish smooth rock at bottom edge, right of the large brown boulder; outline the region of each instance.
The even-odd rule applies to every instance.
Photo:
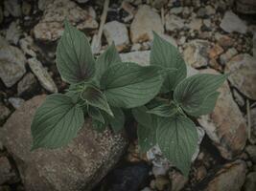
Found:
[[[150,166],[145,163],[129,163],[113,170],[107,177],[107,190],[137,191],[147,185]]]

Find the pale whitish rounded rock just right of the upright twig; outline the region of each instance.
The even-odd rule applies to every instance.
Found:
[[[108,45],[114,42],[119,52],[128,46],[128,29],[125,24],[118,21],[105,23],[104,34]]]

